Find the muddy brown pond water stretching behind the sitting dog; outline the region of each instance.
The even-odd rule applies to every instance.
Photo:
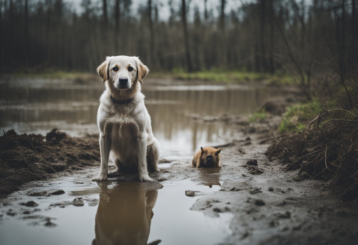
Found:
[[[100,81],[0,79],[0,131],[46,134],[59,128],[71,136],[97,134]],[[142,86],[161,154],[188,155],[200,146],[225,142],[234,132],[224,123],[192,120],[255,111],[282,91],[263,85],[207,85],[147,79]]]

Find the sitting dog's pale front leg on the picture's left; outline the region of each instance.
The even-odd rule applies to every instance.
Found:
[[[110,157],[111,143],[112,141],[109,135],[100,134],[101,169],[98,176],[93,178],[92,181],[107,180],[108,158]]]

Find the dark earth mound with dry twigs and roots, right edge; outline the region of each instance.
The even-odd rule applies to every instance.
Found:
[[[282,135],[266,152],[287,170],[300,169],[296,180],[308,177],[341,187],[343,200],[358,196],[358,124],[333,121],[322,128]]]

